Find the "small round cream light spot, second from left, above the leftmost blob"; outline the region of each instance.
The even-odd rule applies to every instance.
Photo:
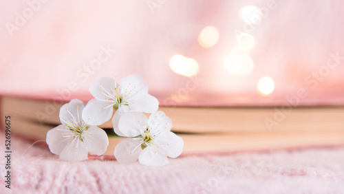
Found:
[[[211,25],[206,26],[198,36],[198,43],[205,48],[213,47],[217,41],[219,41],[219,31]]]

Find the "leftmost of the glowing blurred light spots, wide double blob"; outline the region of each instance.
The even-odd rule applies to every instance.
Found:
[[[186,58],[176,54],[170,60],[170,67],[173,72],[183,76],[194,76],[198,72],[199,65],[193,58]]]

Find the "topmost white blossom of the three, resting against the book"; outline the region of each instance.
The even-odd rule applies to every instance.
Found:
[[[83,110],[83,120],[89,125],[102,125],[112,118],[114,131],[118,136],[123,136],[118,129],[120,115],[126,111],[141,111],[152,113],[158,110],[159,101],[148,94],[148,85],[142,76],[129,75],[117,84],[113,78],[101,78],[89,91],[94,96]]]

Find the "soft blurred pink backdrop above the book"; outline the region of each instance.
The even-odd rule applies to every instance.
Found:
[[[98,78],[120,80],[134,73],[144,76],[151,94],[173,96],[189,80],[169,67],[171,56],[182,54],[198,62],[197,78],[202,82],[181,101],[211,101],[220,96],[227,103],[283,103],[285,96],[297,94],[302,87],[310,94],[305,101],[344,102],[343,63],[330,69],[316,87],[305,82],[327,63],[330,53],[344,56],[343,1],[275,1],[276,8],[250,32],[255,37],[250,51],[255,69],[248,76],[226,72],[224,58],[235,47],[235,30],[244,31],[246,25],[239,10],[248,5],[263,10],[268,1],[159,1],[153,12],[147,2],[34,4],[36,12],[11,36],[6,25],[16,23],[17,13],[30,14],[25,13],[30,3],[1,1],[0,92],[56,94],[72,83],[77,85],[73,94],[87,93]],[[208,49],[197,42],[207,25],[219,30],[218,43]],[[102,45],[116,53],[92,75],[85,74],[84,65],[98,57]],[[259,96],[256,89],[263,76],[275,80],[275,91],[267,97]]]

